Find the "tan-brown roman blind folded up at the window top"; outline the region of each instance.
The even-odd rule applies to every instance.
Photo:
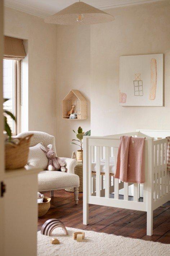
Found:
[[[22,60],[25,56],[23,39],[4,36],[4,59]]]

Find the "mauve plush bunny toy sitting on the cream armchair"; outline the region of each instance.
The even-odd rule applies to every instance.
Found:
[[[46,153],[46,157],[49,159],[47,170],[49,171],[66,171],[65,162],[62,161],[59,157],[55,157],[55,152],[52,150],[53,145],[48,145],[48,150],[44,146],[40,146],[42,151]]]

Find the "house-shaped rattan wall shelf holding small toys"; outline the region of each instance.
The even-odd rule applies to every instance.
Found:
[[[68,111],[74,106],[73,112],[77,114],[77,119],[87,119],[87,101],[79,90],[71,90],[62,101],[63,119],[69,119]]]

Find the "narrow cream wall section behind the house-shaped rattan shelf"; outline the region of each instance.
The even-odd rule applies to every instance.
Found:
[[[62,99],[71,89],[80,90],[88,100],[88,119],[62,119]],[[57,132],[59,156],[71,157],[80,149],[70,145],[79,126],[90,129],[90,26],[57,26]]]

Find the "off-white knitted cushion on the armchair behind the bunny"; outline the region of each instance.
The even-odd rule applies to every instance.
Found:
[[[40,148],[42,145],[42,143],[39,143],[29,148],[28,164],[46,170],[49,160]]]

